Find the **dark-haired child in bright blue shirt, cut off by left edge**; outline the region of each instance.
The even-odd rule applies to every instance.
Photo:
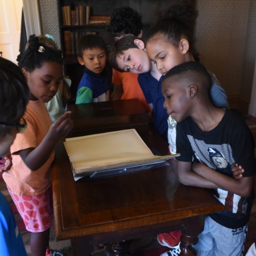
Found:
[[[11,61],[0,57],[0,172],[4,172],[10,155],[10,146],[16,134],[26,128],[20,119],[29,101],[29,89],[20,69]],[[10,167],[10,166],[9,166]],[[27,255],[22,237],[16,226],[12,210],[0,193],[0,255]]]

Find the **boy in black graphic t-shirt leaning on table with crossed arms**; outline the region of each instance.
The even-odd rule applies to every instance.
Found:
[[[244,120],[216,108],[211,79],[196,61],[171,69],[162,81],[164,107],[177,121],[177,169],[184,185],[211,188],[226,210],[205,219],[197,255],[241,255],[250,216],[255,170],[253,137]],[[234,179],[231,165],[243,166]]]

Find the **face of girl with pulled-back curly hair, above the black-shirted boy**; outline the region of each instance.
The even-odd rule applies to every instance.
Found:
[[[176,47],[165,41],[161,35],[155,35],[147,42],[146,53],[156,63],[157,69],[162,75],[186,61],[181,45]]]

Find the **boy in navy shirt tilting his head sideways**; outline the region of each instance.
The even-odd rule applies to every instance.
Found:
[[[144,48],[141,38],[133,35],[124,36],[112,45],[109,61],[119,72],[138,74],[137,82],[153,113],[153,125],[164,138],[167,138],[168,115],[163,108],[164,98],[161,82],[158,81],[161,74],[148,58]]]

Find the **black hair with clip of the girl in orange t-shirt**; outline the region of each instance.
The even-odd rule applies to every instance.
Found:
[[[44,62],[63,62],[62,52],[54,50],[41,42],[35,35],[31,35],[28,41],[28,48],[17,56],[18,66],[32,72],[40,68]]]

